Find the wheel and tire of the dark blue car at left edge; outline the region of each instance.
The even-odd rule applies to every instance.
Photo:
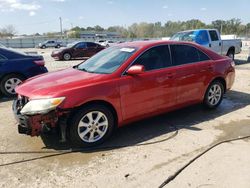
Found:
[[[1,92],[7,97],[16,96],[15,87],[21,84],[24,80],[25,78],[23,76],[17,74],[9,74],[5,76],[0,83]]]

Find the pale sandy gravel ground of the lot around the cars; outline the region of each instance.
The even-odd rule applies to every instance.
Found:
[[[38,53],[44,56],[49,71],[81,62],[54,61],[51,49]],[[207,111],[196,105],[133,123],[119,129],[105,143],[105,146],[120,146],[116,149],[50,157],[49,153],[34,153],[69,148],[51,141],[53,135],[42,139],[19,135],[11,99],[0,99],[0,187],[158,187],[211,144],[250,135],[247,54],[236,56],[234,87],[218,109]],[[179,129],[177,135],[173,125]],[[28,153],[4,153],[10,151]],[[248,188],[249,155],[250,140],[222,144],[196,160],[166,187]],[[41,158],[44,156],[47,158]]]

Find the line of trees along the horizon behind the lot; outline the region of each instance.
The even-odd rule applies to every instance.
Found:
[[[174,33],[183,30],[192,29],[218,29],[221,34],[235,34],[238,36],[250,36],[250,23],[243,24],[240,19],[233,18],[230,20],[215,20],[210,24],[206,24],[198,19],[192,19],[188,21],[168,21],[165,24],[161,22],[156,23],[134,23],[129,27],[123,26],[111,26],[107,29],[97,25],[94,27],[74,27],[69,34],[69,37],[79,38],[82,31],[96,31],[96,32],[117,32],[124,38],[159,38],[159,37],[170,37]]]

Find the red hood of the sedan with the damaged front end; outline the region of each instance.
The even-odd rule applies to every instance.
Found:
[[[18,86],[16,92],[30,99],[59,97],[67,91],[103,81],[106,77],[106,74],[94,74],[69,68],[31,78]]]

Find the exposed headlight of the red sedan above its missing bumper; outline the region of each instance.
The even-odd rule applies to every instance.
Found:
[[[63,102],[65,97],[29,101],[21,110],[23,115],[46,114]]]

